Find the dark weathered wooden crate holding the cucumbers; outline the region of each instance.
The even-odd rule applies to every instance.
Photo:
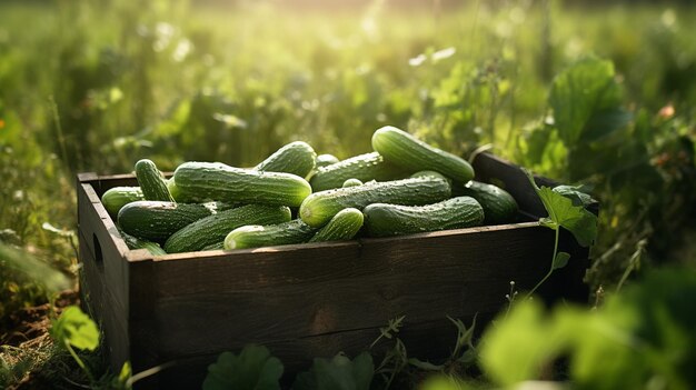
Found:
[[[367,350],[398,316],[406,316],[400,337],[410,356],[447,354],[456,329],[446,316],[465,323],[478,316],[483,328],[506,306],[509,282],[530,289],[553,253],[554,232],[536,222],[546,214],[520,169],[485,153],[474,168],[478,180],[516,198],[519,223],[162,257],[128,250],[100,202],[109,188],[135,186],[132,174],[79,174],[82,294],[103,330],[113,370],[126,360],[135,372],[176,361],[140,384],[197,388],[221,351],[253,342],[292,373],[314,357]],[[539,293],[585,302],[588,249],[568,233],[560,248],[570,263]]]

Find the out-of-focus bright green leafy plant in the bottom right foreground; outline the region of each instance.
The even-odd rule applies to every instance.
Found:
[[[567,357],[576,389],[690,389],[696,359],[696,272],[667,269],[610,297],[604,307],[545,313],[525,300],[483,336],[480,364],[497,384],[553,379]]]

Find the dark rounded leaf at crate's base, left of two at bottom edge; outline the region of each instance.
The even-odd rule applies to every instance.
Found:
[[[282,363],[266,347],[247,346],[237,356],[222,352],[208,367],[203,390],[279,390]]]

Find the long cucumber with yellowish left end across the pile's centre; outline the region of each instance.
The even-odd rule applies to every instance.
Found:
[[[305,223],[320,228],[340,210],[362,209],[370,203],[428,204],[449,198],[451,188],[446,180],[421,177],[394,181],[375,181],[358,187],[315,192],[300,206]]]

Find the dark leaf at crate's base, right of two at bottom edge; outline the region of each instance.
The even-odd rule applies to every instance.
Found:
[[[352,361],[342,353],[326,360],[315,358],[308,372],[297,376],[294,390],[369,390],[375,366],[372,357],[362,352]]]

